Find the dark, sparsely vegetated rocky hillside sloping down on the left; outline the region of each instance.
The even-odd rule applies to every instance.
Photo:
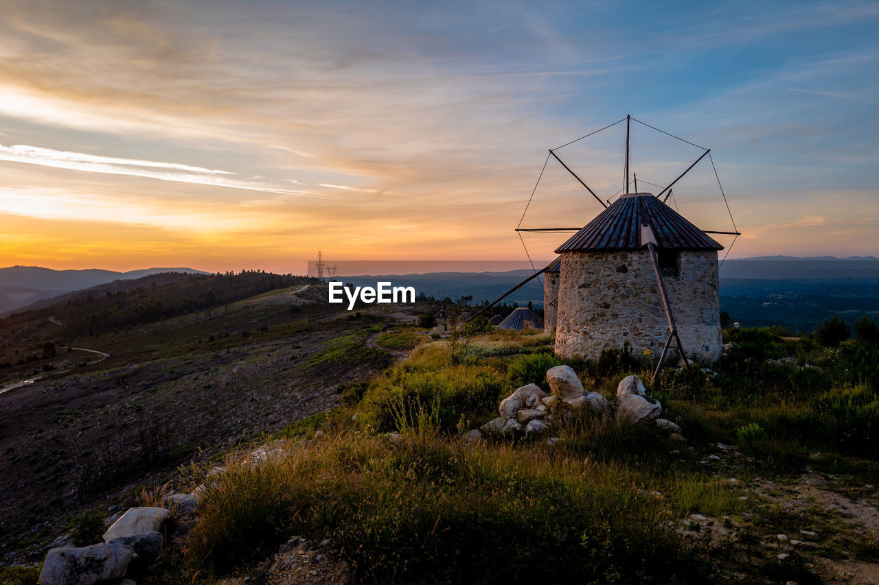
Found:
[[[319,294],[285,289],[77,340],[110,357],[0,394],[0,563],[41,560],[87,510],[132,505],[139,486],[331,408],[345,384],[388,365],[378,349],[320,359],[387,318],[374,307],[349,319]]]

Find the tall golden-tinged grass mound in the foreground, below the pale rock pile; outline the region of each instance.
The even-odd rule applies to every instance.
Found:
[[[228,571],[303,534],[331,538],[365,581],[700,582],[708,571],[665,529],[689,502],[545,446],[339,434],[228,469],[207,491],[190,570]]]

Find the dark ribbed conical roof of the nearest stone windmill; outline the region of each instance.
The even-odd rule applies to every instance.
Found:
[[[701,229],[665,205],[652,193],[628,193],[556,249],[583,252],[602,249],[640,249],[641,227],[650,226],[659,248],[723,249]]]

